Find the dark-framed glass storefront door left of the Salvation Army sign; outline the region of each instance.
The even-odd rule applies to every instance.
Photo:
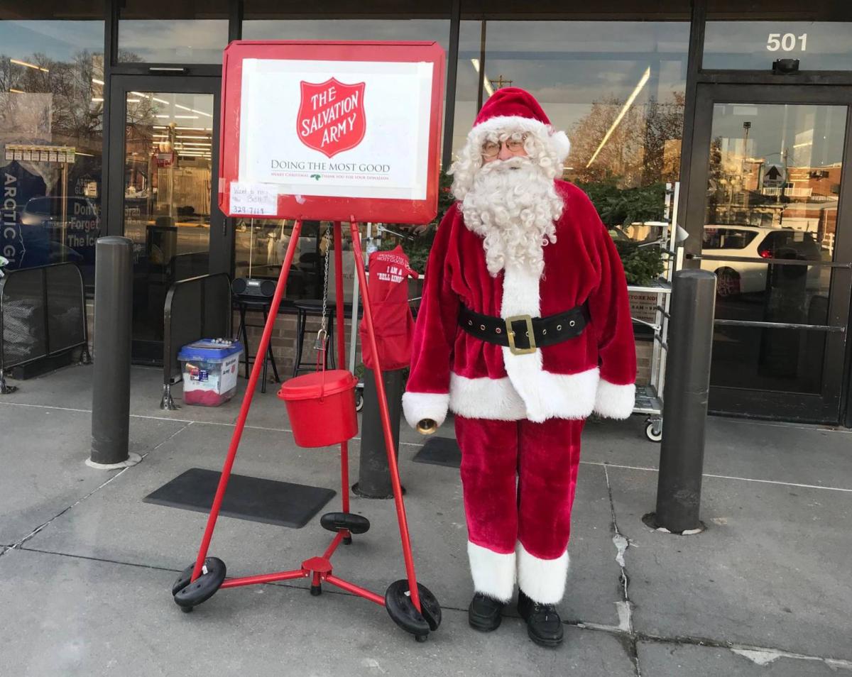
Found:
[[[163,359],[163,311],[172,284],[224,270],[216,207],[216,78],[116,77],[110,156],[112,204],[133,240],[133,359]],[[124,124],[121,125],[121,122]],[[113,212],[114,213],[114,212]]]

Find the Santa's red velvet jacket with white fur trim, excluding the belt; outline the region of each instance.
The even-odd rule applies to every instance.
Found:
[[[544,247],[544,275],[486,268],[482,238],[458,204],[440,222],[417,314],[403,409],[412,426],[442,422],[447,409],[469,418],[626,418],[634,406],[636,345],[625,273],[612,238],[585,193],[556,181],[565,209],[556,243]],[[481,341],[458,326],[460,304],[503,318],[562,313],[587,302],[583,333],[535,353]]]

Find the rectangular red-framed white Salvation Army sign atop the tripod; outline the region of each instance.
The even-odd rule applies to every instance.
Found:
[[[436,43],[231,43],[227,215],[427,223],[437,213],[444,53]]]

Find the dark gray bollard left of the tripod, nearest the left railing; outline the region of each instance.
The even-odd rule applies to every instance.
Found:
[[[133,320],[133,241],[95,244],[95,337],[92,452],[87,465],[117,468],[138,462],[130,444],[130,330]]]

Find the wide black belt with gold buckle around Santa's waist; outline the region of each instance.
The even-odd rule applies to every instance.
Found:
[[[524,355],[582,334],[585,325],[589,324],[589,308],[584,303],[546,318],[515,315],[504,319],[462,307],[458,313],[458,324],[471,336],[508,347],[512,354]],[[529,339],[531,331],[533,341]]]

